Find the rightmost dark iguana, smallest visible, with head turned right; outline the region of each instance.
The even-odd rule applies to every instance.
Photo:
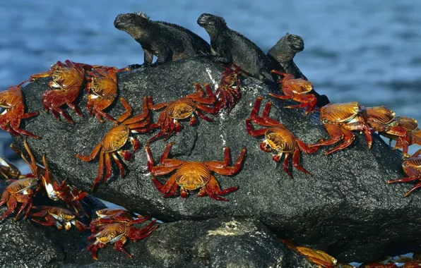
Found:
[[[268,58],[271,59],[272,65],[276,70],[283,73],[290,73],[295,78],[308,80],[305,75],[294,63],[295,54],[304,50],[304,40],[298,35],[290,35],[287,32],[276,44],[269,49]],[[314,89],[310,94],[314,94],[317,98],[317,106],[324,106],[329,102],[326,95],[319,95]]]

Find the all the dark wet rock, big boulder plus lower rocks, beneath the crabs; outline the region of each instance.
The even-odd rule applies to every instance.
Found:
[[[210,83],[215,89],[222,72],[219,63],[205,57],[138,68],[118,75],[119,95],[131,104],[133,114],[139,114],[143,96],[153,96],[154,102],[160,103],[195,92],[193,83]],[[28,110],[40,111],[39,116],[25,121],[26,130],[42,137],[28,139],[29,146],[38,162],[46,154],[54,174],[89,191],[97,176],[97,161],[82,162],[76,154],[89,154],[112,123],[99,123],[90,117],[85,109],[85,96],[77,104],[83,117],[70,111],[73,125],[45,114],[41,97],[48,81],[43,78],[23,89]],[[3,251],[8,253],[0,256],[0,263],[37,262],[69,267],[82,264],[105,267],[113,263],[116,266],[109,267],[118,267],[117,263],[121,267],[311,267],[278,238],[324,250],[340,262],[375,261],[418,249],[420,196],[403,197],[409,187],[404,183],[386,184],[390,179],[403,177],[398,152],[392,152],[378,135],[373,137],[372,150],[367,150],[364,136],[357,134],[353,145],[330,156],[323,155],[324,148],[315,154],[302,153],[300,164],[312,176],[293,169],[290,179],[282,165],[272,161],[271,154],[259,149],[263,138],[247,135],[245,126],[256,97],[279,92],[279,85],[242,78],[240,92],[242,97],[230,114],[215,117],[215,122],[199,118],[198,126],[194,127],[182,123],[181,133],[150,145],[155,161],[167,142],[174,142],[170,158],[192,161],[220,161],[224,146],[230,148],[235,161],[242,147],[247,147],[244,165],[237,175],[215,174],[221,188],[239,185],[238,190],[226,195],[229,202],[198,197],[196,192],[186,199],[179,195],[163,197],[151,181],[145,151],[139,150],[133,161],[125,162],[125,178],[119,178],[115,166],[107,184],[99,184],[92,193],[165,222],[150,237],[127,243],[126,249],[134,259],[108,246],[98,252],[100,261],[95,262],[84,250],[88,243],[85,236],[74,230],[47,230],[32,226],[29,221],[7,219],[0,224],[0,233]],[[288,102],[271,101],[274,103],[271,117],[287,126],[297,138],[313,143],[327,137],[319,114],[304,116],[300,110],[283,109]],[[109,114],[117,118],[122,111],[117,102]],[[153,114],[156,121],[159,113]],[[143,146],[152,135],[141,134],[136,138]],[[22,138],[14,138],[13,143],[23,148]],[[165,182],[162,177],[159,179]],[[46,232],[49,236],[45,237]],[[61,243],[57,244],[51,240],[55,236],[69,238],[59,239]],[[16,242],[17,237],[28,240]],[[37,247],[39,241],[43,241],[45,249]],[[35,250],[25,254],[23,245],[32,245]]]

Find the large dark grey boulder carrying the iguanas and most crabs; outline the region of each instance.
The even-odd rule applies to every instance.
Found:
[[[141,68],[119,74],[119,92],[137,114],[143,96],[153,95],[155,103],[170,101],[194,92],[194,82],[218,84],[222,71],[218,63],[207,59]],[[83,110],[82,118],[67,109],[74,125],[45,114],[41,97],[48,81],[49,78],[41,79],[24,89],[29,110],[41,111],[37,118],[25,121],[27,130],[42,137],[42,140],[28,139],[29,145],[38,161],[43,153],[47,154],[50,169],[89,190],[97,176],[97,160],[82,162],[75,155],[89,154],[112,124],[99,123],[88,116],[85,95],[78,103]],[[294,169],[293,178],[288,178],[282,166],[272,161],[271,154],[259,149],[262,138],[247,135],[244,124],[256,97],[266,96],[271,90],[279,91],[278,87],[269,88],[258,80],[244,78],[242,99],[230,115],[222,114],[214,123],[200,119],[195,127],[184,122],[182,132],[168,140],[175,142],[171,157],[199,161],[222,160],[225,145],[230,147],[232,159],[236,159],[241,148],[247,146],[242,171],[232,177],[215,175],[222,188],[239,185],[239,190],[227,195],[229,202],[197,197],[197,192],[187,199],[164,198],[151,181],[144,150],[136,152],[133,162],[126,162],[126,178],[119,178],[114,166],[114,177],[107,185],[100,184],[93,194],[167,221],[215,217],[259,219],[280,238],[325,250],[342,262],[378,260],[384,254],[415,250],[413,245],[421,242],[421,236],[417,235],[421,230],[421,193],[403,197],[410,183],[386,184],[389,179],[403,176],[401,156],[391,152],[376,135],[369,151],[363,135],[357,134],[354,145],[331,156],[322,154],[324,148],[316,154],[302,154],[302,166],[312,176]],[[274,102],[271,116],[304,142],[327,137],[316,115],[304,116],[302,111],[282,109],[287,102]],[[118,117],[121,112],[117,103],[110,114]],[[158,113],[154,115],[156,120]],[[137,137],[145,144],[152,135]],[[15,142],[22,147],[22,139],[15,138]],[[155,160],[166,143],[159,140],[150,145]],[[160,180],[164,182],[165,178]],[[404,244],[410,245],[409,248],[402,248]]]

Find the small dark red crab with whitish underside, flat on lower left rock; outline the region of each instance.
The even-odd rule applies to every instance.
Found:
[[[49,207],[49,206],[40,206],[36,207],[37,212],[31,212],[31,217],[43,217],[45,221],[40,221],[38,219],[31,219],[42,226],[57,226],[57,229],[69,230],[72,225],[76,226],[79,231],[85,231],[88,229],[85,224],[78,221],[76,217],[78,214],[71,212],[68,209],[61,207]]]

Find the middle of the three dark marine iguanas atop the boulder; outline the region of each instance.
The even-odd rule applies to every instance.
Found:
[[[227,65],[241,67],[242,73],[261,80],[273,81],[271,60],[259,47],[239,32],[228,28],[224,18],[203,13],[197,19],[210,37],[210,52]]]

